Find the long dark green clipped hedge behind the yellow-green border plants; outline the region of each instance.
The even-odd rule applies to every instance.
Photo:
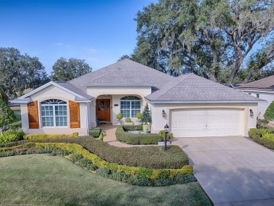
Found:
[[[91,153],[119,165],[147,168],[173,168],[178,169],[188,165],[188,157],[178,146],[168,146],[164,151],[162,146],[143,146],[120,148],[110,146],[108,143],[94,139],[91,136],[79,136],[78,138],[67,139],[37,139],[16,141],[8,144],[0,144],[0,148],[19,146],[23,143],[78,143]]]

